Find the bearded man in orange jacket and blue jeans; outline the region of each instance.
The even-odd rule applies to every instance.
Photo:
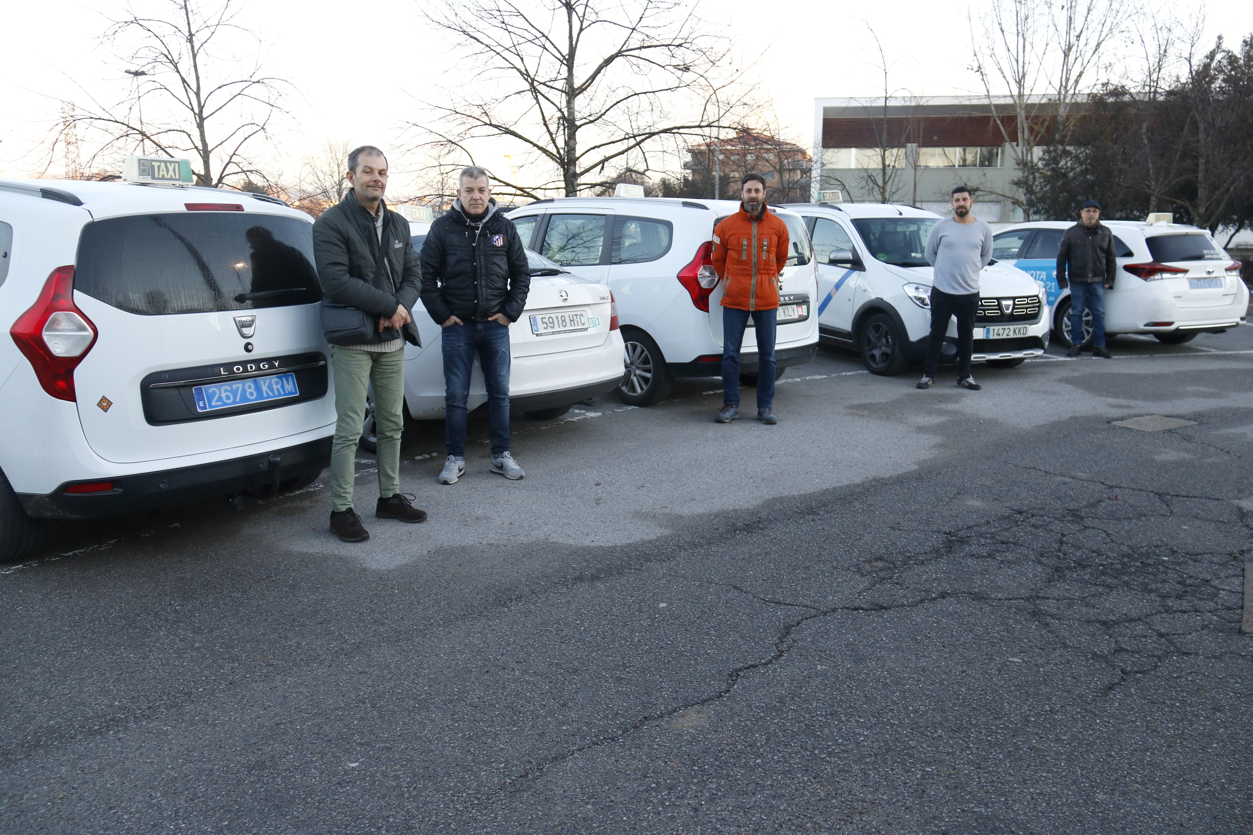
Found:
[[[713,268],[723,283],[723,406],[714,419],[739,417],[739,348],[748,317],[757,329],[757,419],[774,424],[774,330],[779,274],[787,264],[787,225],[766,208],[766,180],[746,174],[739,212],[713,230]]]

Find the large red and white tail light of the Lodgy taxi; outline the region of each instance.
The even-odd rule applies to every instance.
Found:
[[[95,344],[96,329],[74,305],[74,268],[58,267],[39,299],[9,329],[44,391],[74,402],[74,369]]]

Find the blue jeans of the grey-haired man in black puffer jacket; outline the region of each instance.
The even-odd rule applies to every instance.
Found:
[[[467,322],[444,328],[444,443],[447,454],[466,453],[466,401],[474,354],[479,352],[487,384],[491,454],[509,452],[509,328],[499,322]]]

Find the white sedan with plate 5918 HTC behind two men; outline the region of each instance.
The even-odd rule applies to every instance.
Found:
[[[421,249],[425,239],[425,232],[413,230],[415,249]],[[531,290],[523,318],[509,327],[509,402],[514,412],[543,421],[560,417],[574,403],[608,394],[618,387],[623,377],[623,337],[609,288],[579,278],[533,252],[528,252],[526,258],[531,268]],[[421,302],[412,313],[422,346],[405,346],[406,418],[441,419],[444,329]],[[487,387],[475,357],[467,408],[472,411],[486,402]],[[407,437],[412,437],[412,432],[410,423]],[[377,446],[372,404],[366,408],[361,446],[370,452]]]

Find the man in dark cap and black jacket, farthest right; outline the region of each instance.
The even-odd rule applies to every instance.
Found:
[[[1058,287],[1070,285],[1070,351],[1078,357],[1084,343],[1084,310],[1093,315],[1093,357],[1111,359],[1105,348],[1105,290],[1114,289],[1114,233],[1101,225],[1100,203],[1088,200],[1083,218],[1066,229],[1058,245]]]

